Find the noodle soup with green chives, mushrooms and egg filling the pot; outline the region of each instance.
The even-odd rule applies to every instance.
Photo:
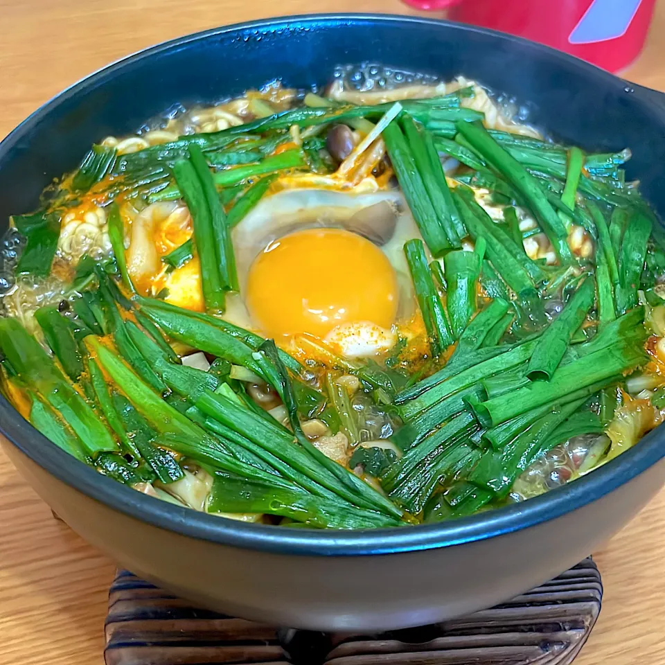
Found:
[[[529,499],[662,422],[630,151],[350,72],[107,136],[12,217],[0,389],[39,432],[197,511],[364,529]]]

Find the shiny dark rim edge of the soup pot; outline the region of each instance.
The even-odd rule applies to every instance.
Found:
[[[231,26],[211,28],[176,37],[122,57],[94,71],[48,100],[12,130],[3,141],[0,141],[0,168],[3,154],[8,154],[15,148],[26,132],[48,117],[51,109],[82,89],[103,83],[107,76],[112,76],[127,65],[135,64],[161,51],[186,47],[209,37],[241,33],[245,30],[277,28],[290,24],[327,24],[329,27],[335,27],[344,21],[366,21],[369,24],[405,23],[488,34],[503,39],[505,42],[529,44],[531,48],[547,53],[549,57],[569,65],[574,64],[579,69],[589,71],[597,78],[611,82],[617,87],[617,92],[625,86],[625,82],[620,78],[571,55],[542,44],[529,42],[521,37],[505,35],[477,26],[438,19],[372,13],[326,13],[272,17],[244,21]],[[649,99],[643,101],[657,115],[657,109],[652,101]],[[67,452],[60,450],[30,425],[19,414],[19,411],[0,394],[0,434],[3,434],[17,450],[43,470],[87,497],[129,517],[134,517],[136,520],[188,538],[244,549],[301,556],[367,556],[452,547],[456,544],[481,541],[521,531],[542,522],[555,520],[566,513],[579,510],[587,504],[601,499],[661,460],[665,456],[665,447],[662,445],[665,429],[662,432],[659,431],[660,429],[657,427],[630,450],[594,470],[593,473],[513,506],[497,508],[450,522],[409,526],[407,529],[317,531],[246,524],[200,513],[191,508],[175,506],[161,499],[139,493],[109,477],[100,475],[94,468],[73,459]]]

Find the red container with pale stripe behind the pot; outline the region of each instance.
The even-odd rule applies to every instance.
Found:
[[[608,71],[639,55],[656,0],[405,0],[423,10],[547,44]]]

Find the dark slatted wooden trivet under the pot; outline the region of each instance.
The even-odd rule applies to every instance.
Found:
[[[508,603],[432,626],[375,635],[275,628],[193,607],[118,571],[106,665],[567,665],[601,610],[587,558]]]

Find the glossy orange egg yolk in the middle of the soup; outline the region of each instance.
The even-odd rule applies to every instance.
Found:
[[[271,242],[247,274],[251,317],[269,337],[323,338],[341,323],[390,328],[397,277],[372,242],[342,229],[304,229]]]

